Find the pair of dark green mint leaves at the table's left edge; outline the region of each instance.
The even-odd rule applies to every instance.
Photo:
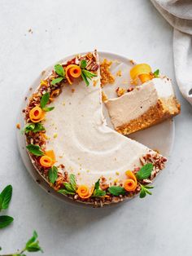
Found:
[[[12,197],[12,186],[8,185],[0,194],[0,211],[6,210],[9,207]],[[13,222],[14,218],[8,215],[0,216],[0,228],[7,227]]]

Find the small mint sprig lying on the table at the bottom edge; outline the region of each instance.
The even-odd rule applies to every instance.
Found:
[[[43,253],[43,250],[41,249],[41,246],[39,245],[39,241],[37,240],[37,232],[33,232],[33,236],[27,241],[27,243],[24,245],[24,249],[18,250],[15,254],[3,254],[0,256],[26,256],[24,254],[25,252],[34,253],[41,251]]]

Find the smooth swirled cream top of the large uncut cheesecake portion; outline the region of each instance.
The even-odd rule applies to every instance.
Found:
[[[99,73],[89,86],[81,80],[64,86],[52,105],[55,109],[46,113],[44,123],[49,138],[46,147],[55,151],[55,165],[63,164],[76,175],[78,184],[90,186],[101,176],[112,184],[126,179],[125,171],[141,166],[139,157],[150,151],[107,127]]]

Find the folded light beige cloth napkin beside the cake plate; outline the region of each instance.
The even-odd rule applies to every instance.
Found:
[[[173,57],[181,94],[192,104],[192,0],[151,0],[174,28]]]

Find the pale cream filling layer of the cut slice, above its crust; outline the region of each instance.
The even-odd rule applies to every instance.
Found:
[[[105,104],[115,127],[142,116],[158,99],[174,96],[172,82],[168,78],[153,78],[137,86],[135,90],[119,98],[108,99]]]

